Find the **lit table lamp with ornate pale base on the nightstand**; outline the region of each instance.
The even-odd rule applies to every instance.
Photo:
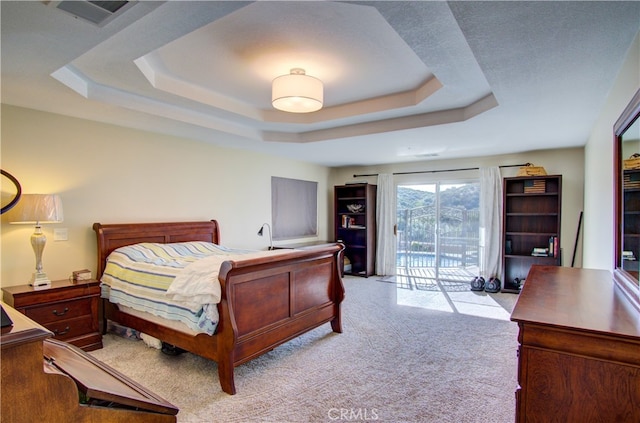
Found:
[[[42,270],[42,251],[47,243],[42,224],[62,222],[62,200],[55,194],[22,194],[18,204],[7,215],[9,223],[35,225],[31,247],[36,255],[36,271],[29,283],[34,288],[50,286],[51,280]]]

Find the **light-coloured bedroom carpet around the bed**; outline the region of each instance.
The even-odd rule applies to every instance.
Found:
[[[375,278],[344,283],[344,332],[326,324],[237,367],[233,396],[216,363],[192,354],[113,334],[91,354],[179,407],[179,422],[514,421],[515,295],[458,293],[502,308],[487,318],[429,298],[399,305],[409,290]]]

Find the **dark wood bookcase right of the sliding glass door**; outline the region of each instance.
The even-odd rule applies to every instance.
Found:
[[[520,292],[533,264],[561,265],[562,176],[504,178],[503,292]]]

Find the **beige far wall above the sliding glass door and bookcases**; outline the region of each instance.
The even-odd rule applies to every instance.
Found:
[[[563,265],[570,266],[574,250],[578,220],[583,204],[583,176],[584,176],[584,151],[582,148],[569,148],[559,150],[531,151],[522,154],[511,154],[503,156],[475,157],[470,159],[423,161],[415,163],[405,163],[399,165],[382,165],[367,167],[345,167],[334,169],[331,172],[331,184],[342,185],[348,182],[364,181],[372,184],[376,183],[376,178],[359,177],[354,178],[354,174],[372,173],[402,173],[430,170],[445,170],[458,168],[477,168],[485,166],[501,166],[522,163],[533,163],[536,166],[543,166],[549,175],[562,175],[562,220],[560,233],[560,247],[563,250]],[[516,176],[518,167],[503,168],[503,177]],[[396,175],[396,184],[416,184],[430,181],[466,181],[478,178],[479,172],[443,172],[424,173],[413,175]],[[580,238],[580,243],[582,237]],[[582,245],[578,246],[576,252],[576,267],[580,267],[582,262]]]

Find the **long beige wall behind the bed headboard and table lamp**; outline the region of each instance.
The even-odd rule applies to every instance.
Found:
[[[23,192],[62,197],[64,222],[44,227],[51,279],[95,273],[94,222],[217,219],[224,245],[266,248],[268,237],[256,233],[271,222],[271,176],[318,182],[318,238],[329,236],[333,187],[323,166],[6,105],[1,153]],[[33,227],[5,217],[0,285],[24,284],[35,267]],[[54,227],[67,228],[69,240],[54,241]]]

